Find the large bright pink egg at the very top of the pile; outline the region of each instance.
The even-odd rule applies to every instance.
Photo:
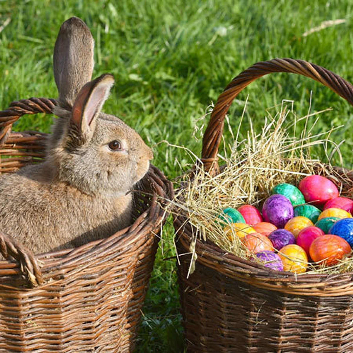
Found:
[[[322,206],[339,195],[336,185],[321,175],[309,175],[302,179],[299,190],[303,193],[305,201],[314,206]]]

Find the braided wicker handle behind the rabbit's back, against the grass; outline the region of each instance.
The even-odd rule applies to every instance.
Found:
[[[52,98],[29,98],[14,101],[6,110],[0,111],[0,146],[6,143],[12,124],[24,114],[52,113],[58,105]]]

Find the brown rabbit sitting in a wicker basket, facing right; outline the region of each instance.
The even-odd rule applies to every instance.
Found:
[[[91,80],[94,40],[77,17],[54,48],[58,106],[42,163],[0,175],[0,231],[33,253],[71,249],[132,221],[132,189],[148,172],[151,149],[116,116],[101,112],[114,83]]]

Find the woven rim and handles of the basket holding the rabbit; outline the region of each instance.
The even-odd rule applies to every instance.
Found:
[[[11,127],[14,121],[24,114],[52,113],[57,104],[54,99],[48,98],[29,98],[20,101],[14,101],[10,108],[0,111],[0,146],[5,145],[7,140],[22,139],[36,140],[47,136],[42,132],[12,132]],[[37,136],[32,136],[37,133]],[[79,266],[80,268],[89,265],[89,259],[94,259],[98,255],[111,253],[115,251],[116,256],[127,249],[135,249],[143,240],[144,234],[155,233],[157,236],[158,228],[162,227],[168,215],[166,205],[174,198],[173,184],[169,181],[163,172],[150,163],[150,168],[143,180],[148,181],[149,189],[141,190],[143,193],[149,193],[149,207],[139,214],[134,222],[107,238],[94,240],[74,249],[65,249],[60,251],[47,252],[40,255],[34,255],[22,244],[13,239],[10,235],[1,233],[0,229],[0,251],[5,259],[0,260],[0,276],[12,276],[25,274],[31,286],[45,285],[52,283],[55,276],[60,277],[60,271],[65,268]],[[152,237],[151,237],[152,238]],[[124,243],[124,246],[121,246]],[[124,249],[123,251],[118,251]],[[6,259],[7,255],[12,255],[16,261]],[[8,285],[0,283],[0,287],[9,288]],[[12,288],[17,289],[17,288]],[[21,291],[27,288],[20,288]],[[30,290],[30,289],[28,289]]]

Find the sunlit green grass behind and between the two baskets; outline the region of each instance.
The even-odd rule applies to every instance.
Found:
[[[195,122],[226,84],[256,61],[291,57],[315,62],[353,81],[352,5],[349,0],[2,0],[0,1],[0,106],[30,96],[56,97],[52,53],[60,24],[82,18],[96,41],[94,76],[116,78],[104,111],[120,116],[154,146],[154,164],[170,178],[181,173],[176,160],[189,160],[183,145],[199,155],[201,140],[192,137]],[[303,36],[323,21],[345,19]],[[4,26],[5,24],[5,26]],[[265,109],[282,99],[295,101],[303,115],[313,91],[312,111],[322,114],[317,131],[345,124],[331,138],[340,143],[345,166],[352,168],[352,110],[342,98],[310,79],[271,74],[256,80],[233,103],[236,128],[249,95],[246,118],[259,131]],[[247,119],[240,138],[245,136]],[[14,127],[49,131],[50,119],[24,117]],[[225,133],[227,138],[228,134]],[[322,151],[317,154],[323,157]],[[171,243],[164,232],[143,309],[138,352],[180,352],[180,315]]]

